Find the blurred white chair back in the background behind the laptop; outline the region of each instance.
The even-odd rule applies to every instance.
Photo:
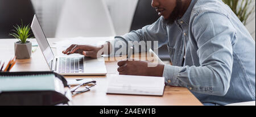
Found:
[[[104,0],[66,0],[55,37],[115,36]]]

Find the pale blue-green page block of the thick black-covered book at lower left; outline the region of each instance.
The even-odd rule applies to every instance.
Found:
[[[59,91],[64,94],[64,85],[54,74],[26,76],[0,76],[1,91]]]

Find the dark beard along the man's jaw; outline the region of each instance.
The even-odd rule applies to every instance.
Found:
[[[182,2],[181,0],[176,0],[176,6],[174,8],[174,11],[172,11],[170,17],[166,19],[168,24],[174,24],[175,20],[180,19],[180,12],[182,7]]]

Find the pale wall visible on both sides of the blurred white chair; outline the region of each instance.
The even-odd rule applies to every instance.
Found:
[[[54,37],[65,0],[31,0],[47,37]],[[117,35],[129,32],[138,0],[105,0]]]

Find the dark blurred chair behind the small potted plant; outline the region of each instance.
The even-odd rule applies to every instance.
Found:
[[[0,0],[0,39],[13,39],[9,33],[13,26],[31,24],[35,14],[30,0]]]

